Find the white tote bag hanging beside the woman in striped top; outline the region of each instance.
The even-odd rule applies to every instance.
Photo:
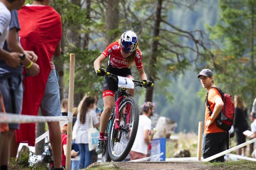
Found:
[[[90,128],[87,130],[89,150],[95,150],[99,141],[99,130],[93,127],[93,115],[90,119]]]

